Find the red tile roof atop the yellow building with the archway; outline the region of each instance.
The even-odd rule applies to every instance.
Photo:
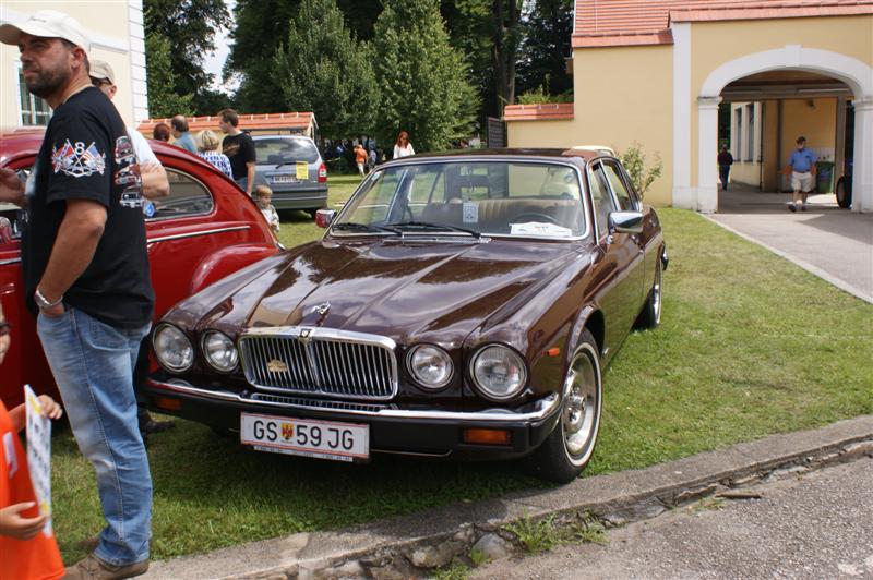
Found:
[[[671,22],[873,14],[873,0],[576,0],[573,48],[672,44]]]

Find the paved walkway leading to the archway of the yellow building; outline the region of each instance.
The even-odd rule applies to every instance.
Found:
[[[873,303],[873,214],[840,208],[834,195],[812,195],[792,214],[790,193],[720,192],[715,222]]]

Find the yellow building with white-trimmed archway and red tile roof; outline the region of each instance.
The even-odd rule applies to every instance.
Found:
[[[784,189],[804,135],[873,212],[873,0],[576,0],[572,46],[574,102],[506,107],[511,147],[637,142],[663,161],[647,201],[716,212],[730,102],[733,181]]]

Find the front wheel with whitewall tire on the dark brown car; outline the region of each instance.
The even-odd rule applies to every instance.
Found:
[[[600,357],[594,337],[585,330],[564,378],[560,421],[530,456],[535,475],[557,483],[578,476],[594,454],[602,400]]]

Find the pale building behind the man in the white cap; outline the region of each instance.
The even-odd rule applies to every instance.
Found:
[[[128,125],[148,117],[142,0],[2,0],[0,21],[16,24],[38,10],[65,12],[88,32],[88,56],[112,67],[118,85],[112,102]],[[24,86],[17,48],[0,44],[0,126],[46,125],[50,117],[48,105]]]

